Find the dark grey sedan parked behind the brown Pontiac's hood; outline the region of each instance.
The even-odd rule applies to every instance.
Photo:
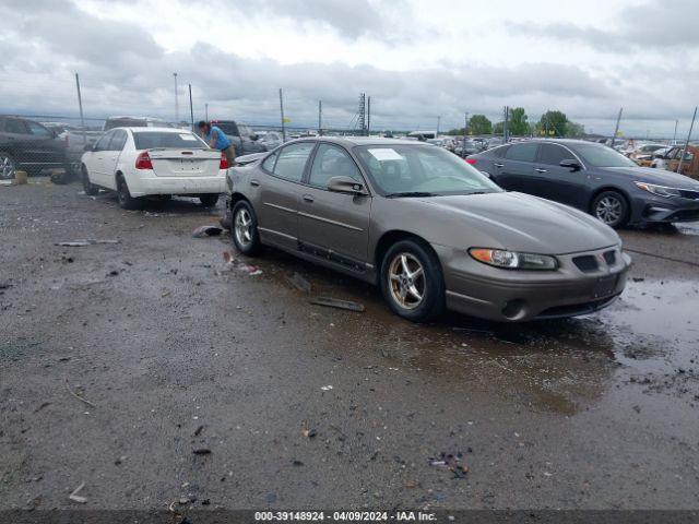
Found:
[[[466,162],[508,191],[578,207],[607,226],[699,221],[699,181],[639,167],[606,145],[532,140],[470,155]]]

